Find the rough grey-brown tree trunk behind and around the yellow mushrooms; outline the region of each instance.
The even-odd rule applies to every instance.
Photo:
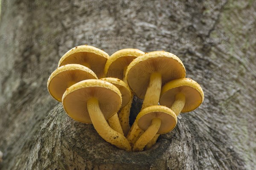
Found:
[[[255,170],[256,1],[1,0],[1,169]],[[74,121],[47,91],[77,45],[180,57],[204,90],[151,150],[129,153]],[[142,100],[134,97],[130,123]]]

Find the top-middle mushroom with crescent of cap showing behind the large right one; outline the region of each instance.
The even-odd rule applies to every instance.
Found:
[[[140,51],[134,48],[126,48],[126,49],[116,51],[114,54],[112,54],[108,58],[106,62],[105,69],[104,69],[105,77],[115,77],[127,83],[124,77],[125,77],[125,73],[128,65],[132,62],[133,59],[141,56],[142,54],[145,54],[145,53],[143,51]],[[118,113],[119,121],[125,136],[130,130],[129,115],[130,115],[132,99],[133,99],[133,93],[131,94],[131,100],[129,101],[129,103],[124,108],[121,108],[121,110]]]

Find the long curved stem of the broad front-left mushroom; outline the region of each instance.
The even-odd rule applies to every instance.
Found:
[[[92,105],[93,107],[91,107]],[[99,108],[98,99],[89,99],[87,101],[87,109],[94,128],[105,141],[120,149],[131,151],[131,146],[125,136],[116,132],[108,125],[108,122]]]

